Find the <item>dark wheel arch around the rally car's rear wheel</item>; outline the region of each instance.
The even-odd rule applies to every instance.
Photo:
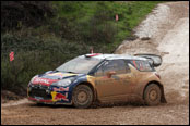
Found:
[[[162,102],[162,103],[167,103],[167,101],[166,101],[166,99],[165,99],[165,94],[164,94],[164,86],[163,86],[161,83],[156,81],[156,80],[149,81],[149,83],[145,85],[145,87],[144,87],[144,89],[143,89],[143,100],[144,100],[144,92],[145,92],[146,87],[150,86],[150,85],[152,85],[152,84],[156,84],[156,85],[159,87],[159,89],[161,89],[161,93],[162,93],[162,94],[161,94],[161,102]]]

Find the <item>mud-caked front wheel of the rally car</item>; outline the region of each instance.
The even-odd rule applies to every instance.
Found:
[[[90,108],[93,102],[92,89],[86,85],[76,86],[72,93],[72,101],[75,108]]]

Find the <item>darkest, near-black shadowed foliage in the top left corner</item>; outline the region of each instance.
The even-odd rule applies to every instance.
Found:
[[[52,13],[49,2],[45,1],[1,1],[1,30],[40,26]]]

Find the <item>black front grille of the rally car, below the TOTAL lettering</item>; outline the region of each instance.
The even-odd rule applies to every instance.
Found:
[[[46,90],[48,90],[48,86],[43,86],[43,85],[33,85],[31,86],[31,90],[29,90],[29,97],[40,97],[43,99],[51,99],[51,94],[49,92],[47,92]]]

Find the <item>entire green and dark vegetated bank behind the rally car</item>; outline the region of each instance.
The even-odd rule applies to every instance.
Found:
[[[1,87],[25,90],[29,79],[90,52],[112,53],[158,1],[2,1]],[[115,15],[119,21],[115,21]],[[10,51],[15,60],[9,61]]]

